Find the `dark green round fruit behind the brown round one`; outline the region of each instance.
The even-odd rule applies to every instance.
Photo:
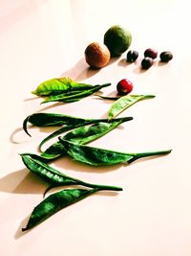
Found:
[[[111,27],[104,35],[104,44],[108,47],[112,57],[123,54],[131,42],[131,33],[118,25]]]

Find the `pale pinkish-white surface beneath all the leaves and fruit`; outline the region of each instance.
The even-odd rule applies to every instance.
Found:
[[[1,78],[1,254],[5,256],[190,256],[190,33],[189,1],[0,1]],[[84,50],[103,40],[112,25],[127,27],[140,58],[148,47],[170,50],[171,62],[139,72],[125,54],[99,71],[88,69]],[[35,111],[106,117],[108,103],[89,97],[70,105],[39,105],[31,91],[41,81],[69,76],[92,84],[134,82],[134,93],[155,94],[121,116],[134,121],[91,145],[118,151],[173,149],[128,167],[91,168],[69,158],[53,163],[65,174],[122,186],[116,195],[99,193],[55,214],[22,234],[46,185],[29,174],[19,152],[36,152],[51,130],[22,131]]]

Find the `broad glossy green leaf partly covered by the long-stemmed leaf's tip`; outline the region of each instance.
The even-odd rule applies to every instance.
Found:
[[[101,136],[107,134],[114,128],[117,128],[120,124],[132,120],[132,117],[124,117],[124,118],[117,118],[108,122],[107,119],[103,119],[103,122],[98,122],[93,126],[83,126],[80,128],[75,128],[74,130],[68,132],[62,138],[65,140],[73,141],[77,144],[86,144]],[[42,144],[41,144],[42,145]],[[53,160],[61,155],[65,154],[64,146],[59,142],[53,143],[46,151],[41,153],[42,157],[47,159]]]

